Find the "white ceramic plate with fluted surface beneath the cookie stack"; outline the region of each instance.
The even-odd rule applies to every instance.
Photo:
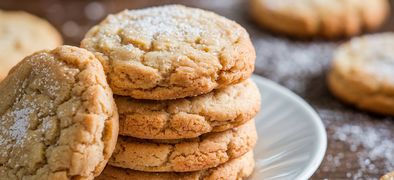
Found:
[[[322,163],[327,133],[316,111],[286,87],[253,74],[261,93],[255,117],[256,168],[248,180],[307,180]]]

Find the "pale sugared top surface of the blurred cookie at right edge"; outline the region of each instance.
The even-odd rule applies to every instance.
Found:
[[[365,84],[394,86],[394,33],[353,37],[341,45],[333,58],[336,73],[363,78]]]

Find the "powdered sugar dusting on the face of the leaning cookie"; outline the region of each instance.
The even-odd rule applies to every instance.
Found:
[[[2,109],[4,113],[0,117],[0,168],[27,168],[27,163],[45,161],[44,156],[37,154],[44,153],[45,149],[32,152],[32,146],[45,147],[56,140],[56,109],[69,98],[66,94],[69,90],[61,86],[72,83],[79,72],[62,67],[67,64],[59,61],[46,52],[33,55],[16,70],[17,76],[8,84],[10,89],[1,92],[5,98],[12,99],[6,98],[9,104],[5,106],[9,108]],[[59,72],[65,76],[59,76]],[[29,154],[34,158],[23,158]]]

